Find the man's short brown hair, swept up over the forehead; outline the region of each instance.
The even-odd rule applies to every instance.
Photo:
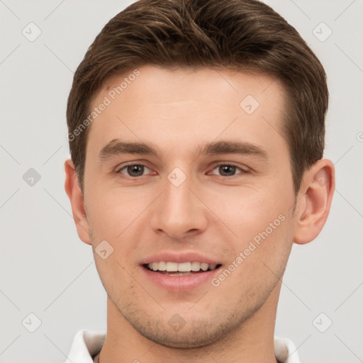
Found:
[[[68,135],[86,120],[101,86],[143,65],[260,72],[283,84],[295,193],[306,169],[323,157],[328,86],[323,66],[296,29],[257,0],[140,0],[109,21],[74,73]],[[88,125],[88,123],[87,123]],[[88,129],[69,138],[84,192]]]

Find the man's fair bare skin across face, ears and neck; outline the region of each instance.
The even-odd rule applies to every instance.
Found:
[[[77,233],[92,246],[108,294],[99,361],[277,362],[273,339],[281,278],[292,244],[310,242],[325,224],[335,187],[333,163],[316,162],[294,194],[289,150],[279,131],[284,89],[266,75],[139,70],[91,124],[84,195],[72,161],[65,162]],[[92,107],[124,77],[109,79]],[[250,115],[240,107],[247,95],[259,102]],[[114,139],[150,143],[160,158],[126,154],[99,162],[100,150]],[[267,157],[196,157],[196,147],[221,140],[257,145]],[[122,169],[126,162],[144,164],[137,169],[142,176]],[[238,167],[218,167],[230,162]],[[167,178],[175,167],[186,175],[179,186]],[[280,215],[284,221],[219,286],[208,280],[189,291],[167,291],[145,278],[140,266],[152,254],[173,251],[199,252],[225,269]],[[106,259],[95,252],[102,240],[113,247]],[[175,314],[185,322],[179,331],[168,324]]]

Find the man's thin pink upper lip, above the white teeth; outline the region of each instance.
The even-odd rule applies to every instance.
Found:
[[[152,262],[205,262],[207,264],[220,264],[220,261],[216,261],[216,259],[212,259],[207,257],[206,255],[201,255],[198,252],[172,252],[172,251],[164,251],[159,252],[155,255],[150,255],[143,259],[140,264],[150,264]]]

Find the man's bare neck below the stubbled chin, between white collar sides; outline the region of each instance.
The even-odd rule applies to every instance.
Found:
[[[193,349],[165,347],[141,335],[128,323],[113,302],[107,300],[107,334],[99,363],[124,362],[266,362],[277,363],[274,327],[281,281],[264,305],[222,340]],[[97,358],[95,362],[98,362]]]

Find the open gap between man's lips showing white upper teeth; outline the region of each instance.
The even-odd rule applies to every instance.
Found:
[[[145,269],[169,276],[188,276],[218,269],[222,264],[207,264],[206,262],[150,262],[143,264]]]

